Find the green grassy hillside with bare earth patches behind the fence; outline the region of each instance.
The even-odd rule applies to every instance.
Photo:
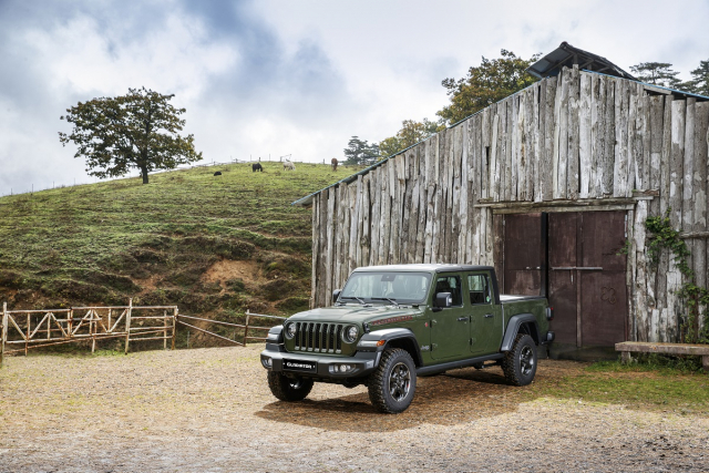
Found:
[[[234,164],[0,198],[0,304],[133,297],[223,320],[307,308],[310,209],[290,203],[352,169],[263,164],[264,173]]]

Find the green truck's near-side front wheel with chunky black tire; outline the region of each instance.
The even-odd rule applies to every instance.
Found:
[[[398,414],[409,408],[417,390],[417,367],[407,350],[384,350],[377,370],[367,383],[369,400],[387,414]]]

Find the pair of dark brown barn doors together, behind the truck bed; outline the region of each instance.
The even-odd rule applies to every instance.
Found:
[[[499,217],[501,286],[507,294],[547,295],[555,345],[613,347],[627,340],[625,212]]]

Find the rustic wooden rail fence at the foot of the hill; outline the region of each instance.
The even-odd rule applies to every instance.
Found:
[[[73,307],[70,309],[47,310],[8,310],[2,305],[0,325],[0,366],[3,356],[10,353],[28,354],[30,349],[51,347],[72,342],[91,342],[91,352],[96,341],[123,339],[124,351],[129,352],[131,342],[163,340],[163,348],[175,349],[176,325],[196,330],[238,346],[246,346],[248,340],[266,340],[249,333],[263,332],[270,327],[253,325],[255,319],[285,320],[284,317],[246,312],[245,323],[229,323],[199,317],[183,316],[177,306],[127,306],[111,307]],[[195,327],[184,320],[197,320],[233,328],[244,329],[242,341]]]

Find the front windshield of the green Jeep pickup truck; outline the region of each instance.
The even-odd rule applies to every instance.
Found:
[[[431,275],[427,273],[352,273],[340,298],[420,304],[425,300],[430,282]]]

